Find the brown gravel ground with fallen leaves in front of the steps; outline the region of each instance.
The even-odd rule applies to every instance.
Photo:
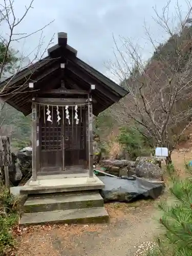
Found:
[[[137,256],[159,232],[157,201],[107,204],[106,225],[36,226],[21,230],[17,256]]]

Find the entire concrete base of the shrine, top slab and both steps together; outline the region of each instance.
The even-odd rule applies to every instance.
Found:
[[[35,183],[30,179],[19,188],[20,195],[27,197],[20,224],[107,222],[102,188],[104,183],[95,175],[90,179],[87,174],[38,176]]]

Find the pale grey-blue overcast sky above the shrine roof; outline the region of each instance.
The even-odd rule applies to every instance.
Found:
[[[0,0],[0,2],[3,0]],[[24,12],[29,0],[15,0],[15,13],[19,17]],[[24,22],[17,28],[19,33],[31,33],[55,19],[54,23],[45,29],[45,46],[51,36],[56,33],[54,42],[57,42],[57,32],[68,33],[68,44],[78,51],[78,57],[91,66],[105,73],[104,62],[114,58],[114,42],[112,33],[118,36],[131,37],[133,42],[145,45],[143,54],[150,57],[152,48],[147,42],[143,28],[145,20],[153,38],[162,41],[166,34],[154,21],[153,7],[162,12],[166,0],[34,0]],[[185,1],[181,5],[186,12]],[[175,13],[176,0],[170,5],[170,15]],[[177,25],[177,24],[176,24]],[[14,47],[28,54],[38,44],[39,34],[36,34],[23,43]],[[120,46],[120,43],[119,43]]]

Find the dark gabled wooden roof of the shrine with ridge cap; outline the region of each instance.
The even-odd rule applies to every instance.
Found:
[[[60,63],[66,63],[65,74],[61,72]],[[64,77],[64,78],[63,78]],[[4,88],[1,99],[12,105],[24,115],[31,113],[31,99],[34,93],[57,89],[61,80],[72,89],[89,90],[95,84],[93,91],[93,114],[98,115],[118,102],[128,92],[104,76],[93,67],[77,57],[77,51],[67,44],[67,34],[58,33],[58,44],[48,49],[48,56],[33,65],[18,72],[11,78],[0,83]],[[29,82],[34,83],[34,91],[29,90]]]

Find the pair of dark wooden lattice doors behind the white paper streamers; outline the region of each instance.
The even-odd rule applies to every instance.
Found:
[[[50,107],[50,122],[47,120],[46,108],[41,108],[40,172],[62,172],[73,170],[73,167],[78,171],[87,167],[86,108],[78,109],[78,123],[74,118],[74,107],[69,106],[68,110],[70,122],[66,118],[65,107],[59,108],[61,120],[57,122],[56,108]]]

